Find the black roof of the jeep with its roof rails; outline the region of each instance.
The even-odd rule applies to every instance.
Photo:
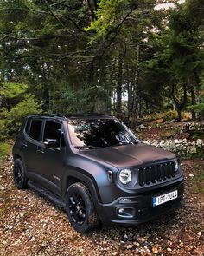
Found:
[[[96,119],[96,118],[113,118],[112,115],[101,114],[101,113],[77,113],[77,114],[35,114],[29,115],[28,117],[39,117],[39,118],[52,118],[58,120],[79,120],[79,119]]]

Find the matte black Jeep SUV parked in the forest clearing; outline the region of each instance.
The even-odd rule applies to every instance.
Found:
[[[134,226],[182,206],[175,154],[145,145],[111,115],[29,115],[13,148],[17,188],[34,188],[85,233]]]

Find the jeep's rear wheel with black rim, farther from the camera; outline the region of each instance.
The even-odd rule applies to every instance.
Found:
[[[14,161],[13,178],[14,184],[18,189],[24,189],[28,187],[28,179],[25,174],[25,168],[23,167],[22,160],[20,158]]]

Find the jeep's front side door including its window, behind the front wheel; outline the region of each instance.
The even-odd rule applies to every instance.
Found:
[[[55,194],[61,194],[61,174],[63,173],[65,159],[65,142],[61,122],[45,121],[42,141],[56,140],[54,147],[50,148],[45,143],[37,147],[39,158],[39,174],[43,186]]]

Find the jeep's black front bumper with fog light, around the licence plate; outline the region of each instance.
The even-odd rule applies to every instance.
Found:
[[[178,190],[178,197],[160,206],[153,207],[153,197]],[[105,225],[118,224],[122,226],[137,226],[143,222],[155,219],[163,213],[170,213],[183,206],[183,181],[167,187],[154,189],[147,194],[118,198],[110,204],[99,206],[99,218]],[[122,210],[120,210],[122,209]],[[122,212],[124,209],[123,213]]]

